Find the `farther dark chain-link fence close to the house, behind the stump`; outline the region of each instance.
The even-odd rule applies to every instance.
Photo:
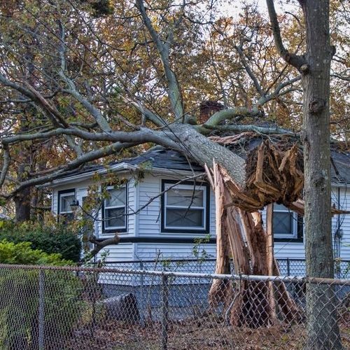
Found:
[[[305,260],[277,259],[282,276],[305,276]],[[152,271],[195,272],[214,274],[215,259],[174,259],[161,257],[156,260],[106,261],[106,267],[120,269],[146,269]],[[234,271],[231,260],[231,271]],[[335,260],[335,276],[337,279],[350,279],[350,261]]]

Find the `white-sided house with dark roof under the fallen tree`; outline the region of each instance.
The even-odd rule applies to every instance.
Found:
[[[350,210],[349,165],[350,153],[332,151],[332,204],[344,210]],[[109,196],[94,223],[99,239],[119,234],[120,244],[108,246],[107,261],[154,259],[159,252],[167,258],[189,258],[195,239],[204,237],[208,237],[205,251],[214,258],[213,191],[208,183],[198,180],[176,185],[203,171],[176,151],[154,149],[115,162],[108,170],[102,166],[87,167],[52,181],[52,211],[59,217],[73,216],[73,200],[80,205],[85,201],[89,186],[96,184],[95,175],[103,177],[112,172],[126,181],[117,188],[107,187]],[[350,260],[349,216],[332,218],[332,235],[335,257]],[[279,204],[274,206],[274,253],[279,259],[304,260],[302,218]]]

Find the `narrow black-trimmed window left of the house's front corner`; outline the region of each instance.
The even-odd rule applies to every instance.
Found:
[[[104,232],[126,232],[127,186],[109,188],[108,193],[109,197],[104,200],[102,211]]]

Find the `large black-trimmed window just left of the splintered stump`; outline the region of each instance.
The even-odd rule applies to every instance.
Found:
[[[163,181],[162,232],[207,233],[209,231],[209,190],[206,185]]]

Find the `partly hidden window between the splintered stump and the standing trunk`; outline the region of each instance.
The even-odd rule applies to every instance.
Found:
[[[302,217],[282,204],[274,204],[274,239],[301,239]]]

